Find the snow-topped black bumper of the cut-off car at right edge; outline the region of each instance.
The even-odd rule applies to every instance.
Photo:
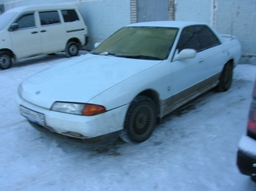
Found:
[[[239,141],[236,165],[242,174],[256,177],[256,140],[243,135]]]

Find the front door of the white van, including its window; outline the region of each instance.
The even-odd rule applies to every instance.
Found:
[[[18,29],[9,34],[17,59],[41,54],[41,38],[35,23],[35,13],[22,14],[14,23],[18,24]]]

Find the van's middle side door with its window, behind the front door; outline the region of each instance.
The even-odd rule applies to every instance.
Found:
[[[65,50],[66,29],[64,28],[59,11],[39,11],[40,35],[43,53],[54,53]]]

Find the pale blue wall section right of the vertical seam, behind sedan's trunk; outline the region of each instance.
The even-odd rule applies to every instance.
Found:
[[[218,1],[215,14],[215,29],[231,33],[242,44],[241,62],[256,65],[256,1]]]

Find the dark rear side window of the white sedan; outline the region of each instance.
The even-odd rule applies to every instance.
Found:
[[[196,26],[198,39],[200,41],[200,50],[206,50],[218,46],[221,42],[208,26]]]

